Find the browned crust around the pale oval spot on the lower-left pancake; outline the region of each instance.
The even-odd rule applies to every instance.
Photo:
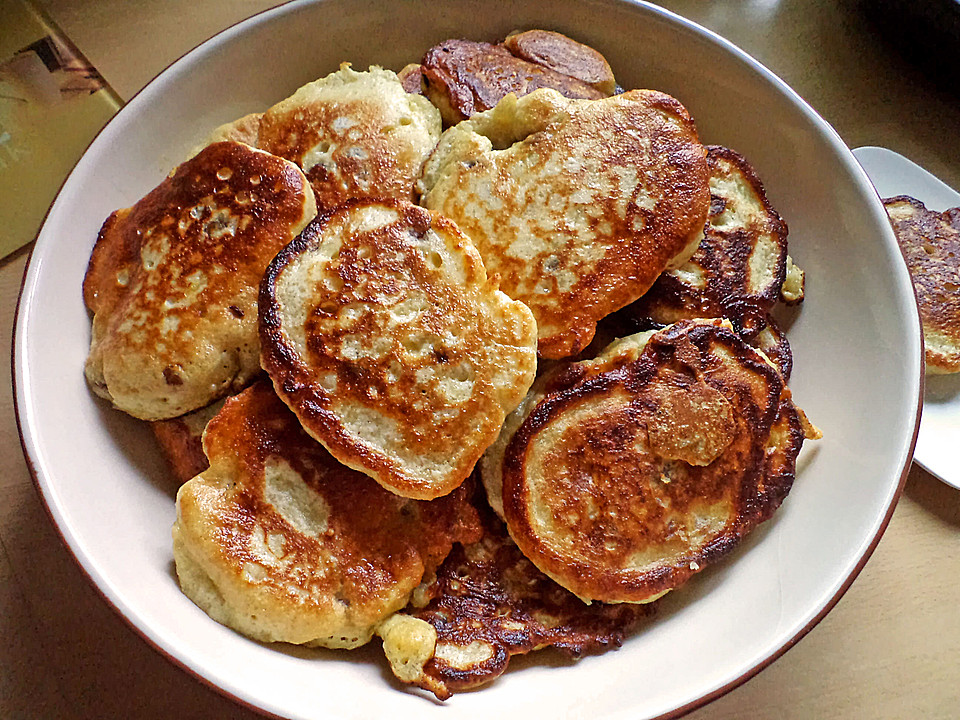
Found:
[[[387,598],[412,591],[453,543],[479,536],[478,517],[469,503],[472,486],[432,502],[384,490],[340,465],[303,432],[266,381],[227,400],[208,425],[204,451],[210,480],[205,474],[181,489],[181,534],[201,538],[191,547],[200,548],[204,558],[211,553],[211,561],[240,584],[246,583],[245,566],[262,562],[251,537],[283,537],[287,562],[282,567],[287,569],[272,567],[265,581],[252,588],[266,598],[265,614],[333,613],[339,606],[375,620],[377,613],[398,609],[384,607]],[[266,473],[277,458],[324,502],[323,532],[296,529],[271,504]],[[205,495],[200,488],[207,483],[214,491]]]

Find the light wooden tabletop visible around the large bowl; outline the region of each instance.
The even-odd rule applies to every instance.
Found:
[[[42,2],[124,99],[194,45],[273,4]],[[863,3],[662,4],[757,57],[850,147],[888,147],[960,187],[960,97],[878,35]],[[26,261],[26,250],[0,261],[0,354],[9,355]],[[9,387],[10,366],[0,367]],[[781,659],[689,717],[960,717],[958,578],[960,491],[914,466],[886,533],[834,610]],[[156,653],[92,588],[38,498],[10,393],[0,399],[0,717],[257,717]]]

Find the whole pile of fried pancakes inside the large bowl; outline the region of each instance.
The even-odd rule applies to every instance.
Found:
[[[818,436],[754,170],[543,30],[217,128],[107,219],[83,290],[91,388],[183,483],[184,593],[261,641],[378,634],[441,698],[619,645]]]

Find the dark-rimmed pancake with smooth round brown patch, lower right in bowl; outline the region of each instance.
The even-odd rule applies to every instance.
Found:
[[[647,602],[728,553],[789,492],[805,424],[726,321],[621,339],[538,379],[484,458],[491,506],[585,600]]]

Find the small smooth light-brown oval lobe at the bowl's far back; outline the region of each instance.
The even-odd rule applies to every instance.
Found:
[[[617,90],[617,81],[607,59],[592,47],[566,35],[550,30],[527,30],[511,33],[503,44],[521,60],[582,80],[604,95],[613,95]],[[554,89],[562,92],[561,88]]]

